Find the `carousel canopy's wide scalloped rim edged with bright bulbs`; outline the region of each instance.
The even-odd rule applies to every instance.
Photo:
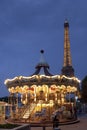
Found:
[[[55,75],[55,76],[46,76],[46,75],[33,75],[29,77],[19,76],[13,79],[5,80],[5,85],[7,87],[16,87],[16,86],[23,86],[23,85],[71,85],[71,86],[78,86],[79,80],[76,77],[66,77],[64,75]]]

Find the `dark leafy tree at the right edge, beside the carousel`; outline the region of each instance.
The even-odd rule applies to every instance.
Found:
[[[82,80],[81,87],[82,87],[81,89],[82,101],[84,103],[87,103],[87,76],[85,76],[84,79]]]

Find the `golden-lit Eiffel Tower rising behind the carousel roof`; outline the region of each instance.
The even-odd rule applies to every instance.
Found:
[[[72,67],[72,58],[70,52],[69,23],[67,20],[64,22],[64,63],[61,71],[62,75],[68,77],[74,76],[74,69]]]

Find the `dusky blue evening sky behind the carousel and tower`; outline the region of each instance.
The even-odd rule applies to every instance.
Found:
[[[5,79],[35,71],[41,49],[50,72],[61,73],[65,19],[81,80],[87,75],[87,0],[0,0],[0,97],[8,95]]]

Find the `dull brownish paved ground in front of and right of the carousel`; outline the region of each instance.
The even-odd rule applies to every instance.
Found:
[[[80,122],[72,125],[59,126],[61,130],[87,130],[87,114],[79,116]],[[43,130],[42,127],[31,127],[31,130]],[[53,130],[52,127],[46,127],[45,130]]]

